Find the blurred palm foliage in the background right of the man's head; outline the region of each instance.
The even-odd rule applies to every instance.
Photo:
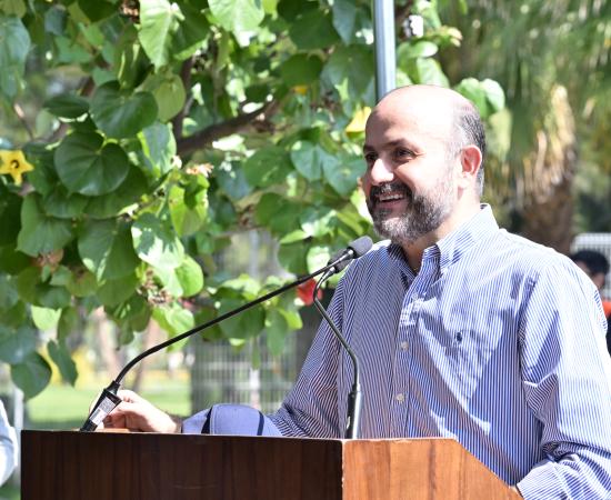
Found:
[[[608,229],[611,204],[600,178],[611,172],[611,3],[467,3],[465,17],[455,2],[444,2],[443,19],[455,23],[464,39],[442,60],[453,78],[487,76],[507,91],[508,112],[497,122],[505,139],[492,144],[501,161],[488,164],[489,186],[524,226],[549,217],[554,199],[557,213],[563,212],[577,188],[579,213],[571,220],[569,209],[569,217],[548,221],[541,229],[550,237],[539,234],[542,242],[570,242],[575,220],[581,230]]]

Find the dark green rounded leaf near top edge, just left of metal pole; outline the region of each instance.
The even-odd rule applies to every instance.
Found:
[[[329,12],[310,10],[289,28],[289,37],[299,50],[325,49],[340,40]]]

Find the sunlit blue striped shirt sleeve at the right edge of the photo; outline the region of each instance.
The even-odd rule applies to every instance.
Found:
[[[539,270],[520,322],[527,402],[543,459],[518,483],[528,500],[608,498],[611,358],[598,291],[572,264]]]

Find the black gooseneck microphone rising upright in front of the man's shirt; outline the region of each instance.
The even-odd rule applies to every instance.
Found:
[[[334,273],[345,268],[350,262],[350,260],[358,259],[359,257],[364,256],[371,249],[372,244],[373,242],[371,241],[371,238],[361,237],[358,240],[354,240],[352,243],[350,243],[347,249],[340,250],[338,253],[331,257],[329,262],[334,261],[335,264],[331,269],[325,271],[324,274],[322,274],[322,277],[318,280],[317,286],[314,287],[314,290],[312,292],[314,306],[317,307],[321,316],[324,318],[324,320],[331,328],[331,331],[335,334],[337,339],[343,346],[343,348],[348,352],[348,356],[350,357],[350,360],[352,361],[353,377],[352,377],[352,388],[350,389],[350,392],[348,394],[348,411],[347,411],[347,418],[345,418],[347,423],[345,423],[345,432],[344,432],[345,439],[358,439],[359,437],[359,428],[361,423],[361,401],[362,401],[359,360],[354,351],[352,351],[352,349],[350,348],[350,344],[345,341],[340,330],[331,319],[331,317],[327,313],[322,303],[320,303],[320,301],[318,300],[318,291],[320,286],[324,281],[331,278],[331,276],[333,276]]]

